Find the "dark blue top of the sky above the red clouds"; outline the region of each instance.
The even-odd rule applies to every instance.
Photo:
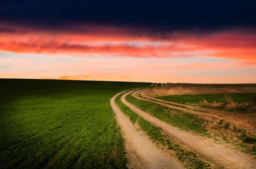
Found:
[[[4,0],[0,21],[54,29],[70,23],[150,26],[157,32],[256,26],[256,0]]]

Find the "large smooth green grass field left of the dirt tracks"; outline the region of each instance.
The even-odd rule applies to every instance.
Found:
[[[0,79],[1,168],[126,168],[110,99],[149,85]]]

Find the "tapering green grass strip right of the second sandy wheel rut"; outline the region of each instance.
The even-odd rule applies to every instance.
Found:
[[[181,129],[192,130],[194,132],[209,135],[204,127],[205,120],[190,113],[182,112],[176,109],[166,108],[156,103],[138,100],[131,95],[126,97],[126,100],[145,112],[151,112],[151,115]]]

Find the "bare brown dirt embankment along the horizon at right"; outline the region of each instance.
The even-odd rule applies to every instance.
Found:
[[[256,84],[192,84],[167,83],[149,90],[146,95],[150,97],[168,95],[207,95],[225,93],[256,93]]]

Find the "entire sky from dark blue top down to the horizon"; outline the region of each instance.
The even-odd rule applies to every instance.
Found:
[[[255,0],[0,2],[0,78],[256,83]]]

